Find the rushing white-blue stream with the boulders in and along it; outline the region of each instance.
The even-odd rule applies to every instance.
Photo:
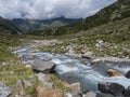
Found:
[[[57,75],[60,80],[69,84],[79,83],[78,85],[74,85],[77,89],[73,88],[73,91],[66,92],[65,97],[130,96],[130,59],[128,58],[77,58],[64,54],[31,51],[29,46],[21,47],[13,53],[21,57],[23,65],[32,68],[39,80],[49,87],[47,89],[53,87],[53,83],[43,79],[49,73]],[[38,88],[46,89],[44,87]],[[39,91],[38,94],[40,96],[37,97],[42,97],[41,94],[44,95],[43,93],[39,93]],[[56,97],[61,97],[60,94]]]

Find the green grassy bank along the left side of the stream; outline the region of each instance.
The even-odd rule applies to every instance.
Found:
[[[31,37],[23,36],[0,36],[0,82],[8,86],[15,86],[18,80],[35,81],[31,82],[32,86],[25,86],[25,94],[35,97],[34,89],[41,83],[35,77],[31,68],[26,68],[21,65],[16,55],[11,53],[11,50],[22,46],[31,39]],[[30,77],[34,77],[32,79]],[[21,92],[13,88],[13,96]]]

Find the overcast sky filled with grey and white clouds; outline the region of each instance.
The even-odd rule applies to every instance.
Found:
[[[116,0],[0,0],[4,18],[87,17]]]

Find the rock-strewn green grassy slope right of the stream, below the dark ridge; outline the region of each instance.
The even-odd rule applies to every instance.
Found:
[[[47,52],[65,53],[67,45],[77,45],[74,47],[76,53],[80,53],[83,46],[84,51],[92,51],[96,56],[128,56],[130,57],[130,17],[112,22],[102,26],[91,28],[80,33],[72,33],[56,37],[64,41],[63,44],[54,46],[40,46],[40,50]],[[99,51],[95,46],[96,40],[103,40],[107,43]]]

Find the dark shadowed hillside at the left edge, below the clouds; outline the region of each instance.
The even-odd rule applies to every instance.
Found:
[[[9,34],[15,34],[15,33],[22,33],[22,31],[14,26],[10,20],[0,17],[0,34],[9,33]]]

